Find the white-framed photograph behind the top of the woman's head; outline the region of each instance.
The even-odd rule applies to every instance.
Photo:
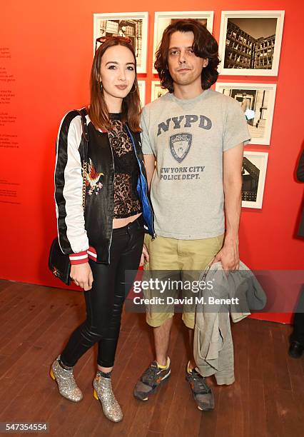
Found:
[[[128,36],[131,39],[138,73],[146,73],[148,12],[120,12],[93,14],[93,50],[98,48],[96,39],[101,36]]]

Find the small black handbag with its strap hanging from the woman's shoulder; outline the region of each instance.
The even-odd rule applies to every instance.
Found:
[[[83,143],[83,157],[82,157],[82,206],[83,211],[86,202],[86,171],[87,171],[87,154],[88,154],[88,126],[86,126],[86,110],[81,109],[78,111],[78,114],[81,116],[81,124],[82,124],[82,136],[81,142]],[[49,253],[49,269],[51,272],[63,281],[66,285],[70,285],[71,283],[71,262],[69,255],[63,253],[59,246],[58,237],[54,238],[51,243],[50,253]]]

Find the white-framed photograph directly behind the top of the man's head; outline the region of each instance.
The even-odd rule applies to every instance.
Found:
[[[192,18],[201,21],[208,31],[213,31],[213,11],[178,11],[178,12],[156,12],[154,16],[154,39],[153,39],[153,74],[157,74],[154,69],[155,53],[161,42],[163,31],[169,24],[180,19]]]

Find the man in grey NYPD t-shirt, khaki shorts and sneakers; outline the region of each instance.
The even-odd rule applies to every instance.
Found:
[[[218,63],[218,44],[198,21],[176,21],[163,32],[155,66],[169,93],[148,104],[141,121],[155,214],[156,238],[146,238],[143,251],[151,271],[201,271],[213,260],[226,270],[239,265],[243,143],[250,135],[238,101],[210,89]],[[191,349],[194,319],[194,312],[183,313]],[[153,326],[156,361],[134,389],[142,401],[170,376],[173,308],[148,310],[146,321]],[[210,410],[213,393],[195,367],[190,357],[186,378],[198,408]]]

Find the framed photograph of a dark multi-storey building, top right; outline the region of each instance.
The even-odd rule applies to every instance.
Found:
[[[284,11],[222,11],[220,73],[277,76]]]

